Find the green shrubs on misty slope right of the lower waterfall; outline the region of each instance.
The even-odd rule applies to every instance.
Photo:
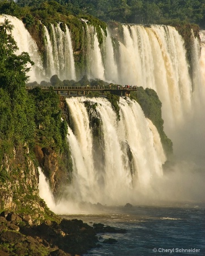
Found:
[[[159,100],[155,90],[148,88],[144,90],[143,87],[140,86],[136,92],[131,92],[130,97],[139,103],[144,115],[152,121],[153,125],[156,126],[166,155],[168,156],[172,154],[172,141],[170,141],[164,133],[164,121],[161,118],[161,101]]]

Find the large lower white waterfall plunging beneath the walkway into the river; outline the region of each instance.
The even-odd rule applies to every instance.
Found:
[[[120,99],[120,121],[105,98],[71,97],[66,102],[72,123],[68,140],[74,163],[74,183],[68,189],[75,191],[75,200],[102,204],[134,202],[136,189],[148,187],[154,176],[163,176],[166,158],[159,134],[137,102]],[[101,120],[101,155],[93,151],[96,141],[85,102],[96,104]]]

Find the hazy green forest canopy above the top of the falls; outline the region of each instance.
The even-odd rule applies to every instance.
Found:
[[[7,2],[7,1],[6,1]],[[5,2],[4,10],[21,7],[31,7],[32,11],[41,12],[47,6],[52,11],[63,14],[88,14],[108,22],[116,20],[122,23],[197,23],[205,26],[205,0],[17,0],[18,7],[8,7]],[[10,3],[10,4],[11,4]]]

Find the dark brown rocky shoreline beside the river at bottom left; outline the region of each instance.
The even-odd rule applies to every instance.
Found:
[[[30,217],[14,212],[0,213],[0,255],[74,256],[100,247],[99,233],[125,233],[104,224],[89,226],[82,220],[46,220],[29,224]],[[101,243],[116,243],[109,238]]]

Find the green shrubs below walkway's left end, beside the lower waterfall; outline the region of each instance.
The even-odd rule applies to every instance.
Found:
[[[35,102],[35,141],[41,147],[51,147],[56,152],[63,152],[67,147],[67,125],[66,121],[61,120],[59,96],[52,87],[48,92],[36,87],[29,94]]]

